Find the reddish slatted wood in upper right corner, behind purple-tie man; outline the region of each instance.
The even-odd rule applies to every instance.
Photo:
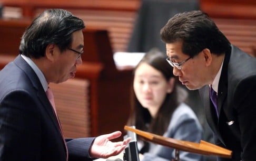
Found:
[[[200,0],[200,8],[214,19],[233,45],[256,57],[255,0]]]

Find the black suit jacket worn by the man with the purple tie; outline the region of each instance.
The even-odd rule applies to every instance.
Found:
[[[218,87],[219,119],[209,85],[199,92],[216,144],[230,149],[232,160],[256,160],[256,58],[235,46],[225,54]]]

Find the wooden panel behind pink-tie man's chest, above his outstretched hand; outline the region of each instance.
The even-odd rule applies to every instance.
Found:
[[[91,136],[89,82],[69,79],[50,87],[65,138]]]

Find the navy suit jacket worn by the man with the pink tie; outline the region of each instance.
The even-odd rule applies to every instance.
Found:
[[[21,56],[0,71],[0,89],[0,160],[66,160],[51,103]],[[69,160],[86,160],[93,139],[68,141]]]

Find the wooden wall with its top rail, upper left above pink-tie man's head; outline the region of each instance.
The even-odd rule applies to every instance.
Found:
[[[130,40],[139,0],[2,0],[7,7],[20,9],[4,9],[4,16],[32,18],[42,13],[45,8],[64,8],[84,20],[86,26],[106,29],[110,34],[111,47],[114,52],[126,51]],[[16,11],[16,13],[15,13]]]

